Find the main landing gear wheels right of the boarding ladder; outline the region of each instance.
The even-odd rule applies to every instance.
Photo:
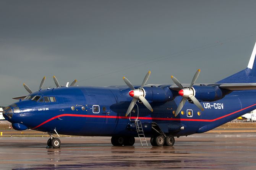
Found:
[[[151,137],[150,143],[152,146],[173,146],[175,143],[175,139],[172,135],[168,135],[166,137],[159,135]]]

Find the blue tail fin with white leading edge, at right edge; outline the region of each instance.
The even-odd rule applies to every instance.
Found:
[[[256,43],[251,54],[249,64],[246,69],[239,71],[227,78],[224,78],[217,83],[256,83]]]

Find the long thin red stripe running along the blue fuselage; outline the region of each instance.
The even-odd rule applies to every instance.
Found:
[[[229,113],[229,114],[226,114],[224,116],[221,116],[219,118],[215,118],[215,119],[178,119],[178,118],[151,118],[151,117],[138,117],[138,119],[141,119],[141,120],[162,120],[162,121],[196,121],[196,122],[214,122],[214,121],[217,121],[219,119],[222,119],[222,118],[225,118],[227,116],[230,116],[232,114],[235,114],[235,113],[238,113],[240,111],[243,111],[245,109],[248,109],[252,106],[255,106],[256,104],[254,105],[251,105],[251,106],[248,106],[246,108],[243,108],[241,110],[238,110],[238,111],[234,111],[232,113]],[[53,119],[56,119],[56,118],[60,118],[60,117],[64,117],[64,116],[71,116],[71,117],[84,117],[84,118],[112,118],[112,119],[129,119],[130,117],[126,117],[126,116],[100,116],[100,115],[84,115],[84,114],[60,114],[58,116],[54,116],[53,118],[50,118],[48,119],[47,121],[44,121],[42,122],[41,124],[39,124],[38,126],[32,128],[32,129],[36,129],[37,127],[40,127],[44,124],[46,124],[47,122],[50,122],[52,121]],[[135,119],[137,117],[131,117],[131,119]]]

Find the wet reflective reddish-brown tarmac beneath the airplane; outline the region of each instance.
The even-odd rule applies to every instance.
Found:
[[[256,133],[203,133],[175,138],[173,147],[116,147],[110,137],[1,137],[0,169],[256,169]]]

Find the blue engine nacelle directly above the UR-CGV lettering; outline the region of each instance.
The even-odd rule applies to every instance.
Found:
[[[219,86],[193,86],[194,97],[199,101],[212,102],[222,99],[227,92],[220,89]]]

